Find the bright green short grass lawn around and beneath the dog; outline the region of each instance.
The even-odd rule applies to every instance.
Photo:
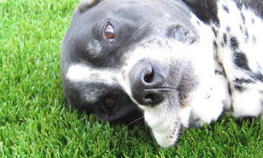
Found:
[[[263,122],[221,117],[162,149],[149,128],[69,112],[60,43],[77,0],[0,0],[0,157],[263,157]]]

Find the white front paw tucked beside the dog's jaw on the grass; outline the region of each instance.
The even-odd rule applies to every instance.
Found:
[[[224,106],[229,104],[227,96],[227,81],[222,75],[215,75],[210,86],[199,88],[192,100],[191,124],[203,126],[220,117]],[[212,86],[213,85],[213,86]],[[203,89],[208,91],[203,91]]]

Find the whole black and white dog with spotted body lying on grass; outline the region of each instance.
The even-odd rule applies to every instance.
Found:
[[[263,118],[262,0],[95,0],[61,47],[65,98],[100,119],[143,113],[159,145],[181,129]]]

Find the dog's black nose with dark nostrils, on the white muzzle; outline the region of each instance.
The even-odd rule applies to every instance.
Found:
[[[158,64],[139,61],[130,72],[130,86],[133,98],[140,105],[158,105],[168,91]]]

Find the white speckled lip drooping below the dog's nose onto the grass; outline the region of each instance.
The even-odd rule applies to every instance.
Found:
[[[181,129],[188,127],[191,108],[182,107],[178,101],[168,100],[155,107],[139,107],[144,110],[144,119],[161,147],[174,145]]]

